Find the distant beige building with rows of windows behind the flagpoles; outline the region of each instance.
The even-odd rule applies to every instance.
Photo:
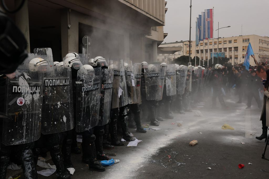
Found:
[[[213,45],[212,45],[213,43]],[[193,58],[198,56],[201,60],[204,60],[207,65],[207,59],[211,58],[212,50],[224,53],[224,56],[230,59],[232,65],[240,65],[244,63],[247,46],[251,43],[256,60],[259,62],[267,62],[269,59],[269,37],[259,35],[240,35],[232,37],[223,37],[212,40],[200,41],[199,46],[195,48],[195,41],[191,43],[190,55]],[[180,46],[182,50],[175,54],[158,54],[157,60],[165,61],[167,57],[170,59],[177,58],[181,55],[189,55],[189,42],[188,41],[176,41],[171,43],[162,43],[160,46]],[[208,53],[209,52],[209,53]],[[250,64],[255,65],[254,60],[250,57]]]

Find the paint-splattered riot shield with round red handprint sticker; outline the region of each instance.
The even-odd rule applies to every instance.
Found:
[[[40,138],[42,81],[34,64],[24,63],[6,79],[6,116],[3,119],[2,143],[25,144]]]

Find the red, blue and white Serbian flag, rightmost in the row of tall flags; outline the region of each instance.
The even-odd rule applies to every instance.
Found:
[[[204,29],[206,38],[213,38],[213,9],[204,10]]]

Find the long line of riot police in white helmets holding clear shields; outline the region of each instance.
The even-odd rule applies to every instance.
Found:
[[[191,69],[191,70],[190,70]],[[193,73],[195,75],[193,75]],[[173,118],[171,103],[181,114],[191,104],[192,83],[199,75],[192,66],[134,63],[101,56],[68,53],[53,61],[50,48],[34,49],[34,54],[13,74],[1,75],[0,178],[5,178],[12,152],[22,162],[24,176],[37,178],[38,156],[50,152],[57,178],[70,178],[71,153],[80,154],[77,134],[82,135],[82,162],[89,169],[104,171],[100,160],[108,160],[103,148],[133,141],[128,120],[134,116],[136,131],[140,113],[150,125]],[[195,94],[195,93],[193,93]],[[46,150],[47,149],[47,150]]]

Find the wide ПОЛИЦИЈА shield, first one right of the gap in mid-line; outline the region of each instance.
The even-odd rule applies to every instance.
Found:
[[[161,98],[159,64],[150,64],[145,69],[146,98],[147,100],[157,100]]]

